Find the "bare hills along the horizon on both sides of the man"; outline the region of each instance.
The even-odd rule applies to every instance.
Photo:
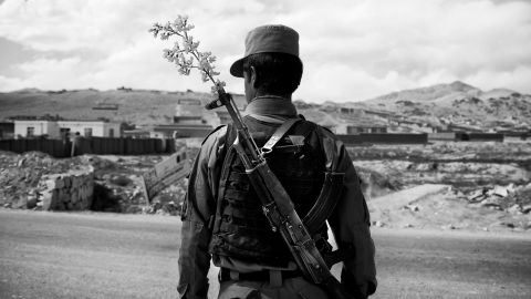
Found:
[[[165,124],[171,123],[179,100],[206,103],[210,99],[210,94],[192,91],[28,89],[0,93],[0,120],[50,114],[65,118],[106,117],[137,125]],[[235,99],[239,105],[244,105],[243,95],[235,95]],[[93,110],[100,104],[117,105],[118,109]],[[392,132],[423,132],[408,124],[439,128],[456,125],[479,131],[531,128],[531,95],[507,89],[485,92],[459,81],[394,92],[362,102],[308,104],[299,100],[295,105],[308,120],[329,127],[387,126]],[[344,109],[350,110],[345,112]],[[202,113],[205,120],[214,116],[214,112]]]

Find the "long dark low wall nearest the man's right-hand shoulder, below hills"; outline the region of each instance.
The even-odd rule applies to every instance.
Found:
[[[391,133],[362,133],[354,135],[337,135],[345,145],[371,144],[426,144],[428,134],[391,134]]]

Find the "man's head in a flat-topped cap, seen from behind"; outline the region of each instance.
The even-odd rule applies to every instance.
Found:
[[[290,97],[302,76],[299,59],[299,33],[284,25],[263,25],[246,38],[246,54],[230,68],[235,76],[244,78],[246,95]]]

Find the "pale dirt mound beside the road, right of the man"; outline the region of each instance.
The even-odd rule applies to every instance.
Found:
[[[372,223],[378,227],[531,231],[530,195],[531,184],[491,186],[466,194],[426,184],[367,204]]]

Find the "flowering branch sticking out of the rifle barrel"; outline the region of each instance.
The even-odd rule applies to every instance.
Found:
[[[178,39],[174,43],[174,48],[164,49],[164,58],[179,68],[179,73],[189,75],[191,69],[198,69],[201,73],[202,81],[211,81],[214,83],[212,93],[218,93],[226,85],[225,82],[215,80],[219,72],[216,72],[216,56],[211,52],[200,52],[198,50],[199,41],[194,41],[194,37],[189,34],[194,25],[188,22],[188,17],[178,16],[174,22],[166,24],[154,23],[149,29],[155,38],[168,40],[171,35]]]

